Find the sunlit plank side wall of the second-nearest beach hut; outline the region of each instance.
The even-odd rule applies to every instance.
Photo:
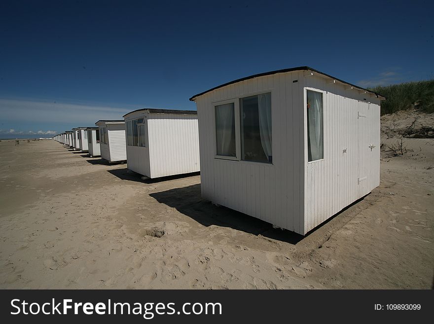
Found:
[[[150,177],[200,171],[196,114],[147,115]]]

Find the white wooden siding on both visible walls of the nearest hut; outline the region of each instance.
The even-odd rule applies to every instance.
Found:
[[[278,73],[230,84],[196,98],[202,196],[306,234],[377,186],[379,99],[326,80],[305,76],[303,71]],[[324,159],[311,163],[307,157],[306,87],[324,92]],[[270,91],[273,164],[215,158],[213,106],[219,101]],[[367,120],[361,125],[357,111],[363,107]],[[360,133],[365,134],[365,142],[376,146],[372,152],[363,148],[366,143],[360,141],[360,127],[364,127]],[[357,183],[358,154],[367,170],[362,186]]]

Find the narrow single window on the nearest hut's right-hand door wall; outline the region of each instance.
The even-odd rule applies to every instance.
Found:
[[[323,150],[323,94],[306,90],[308,161],[324,158]]]

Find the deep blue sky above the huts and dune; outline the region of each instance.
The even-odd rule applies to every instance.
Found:
[[[196,93],[296,66],[364,87],[430,79],[432,3],[0,1],[0,138],[196,109]]]

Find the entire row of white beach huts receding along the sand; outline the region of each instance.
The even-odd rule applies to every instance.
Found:
[[[200,171],[205,199],[305,235],[379,185],[384,99],[298,67],[199,93],[197,111],[138,109],[54,139],[146,178]]]

